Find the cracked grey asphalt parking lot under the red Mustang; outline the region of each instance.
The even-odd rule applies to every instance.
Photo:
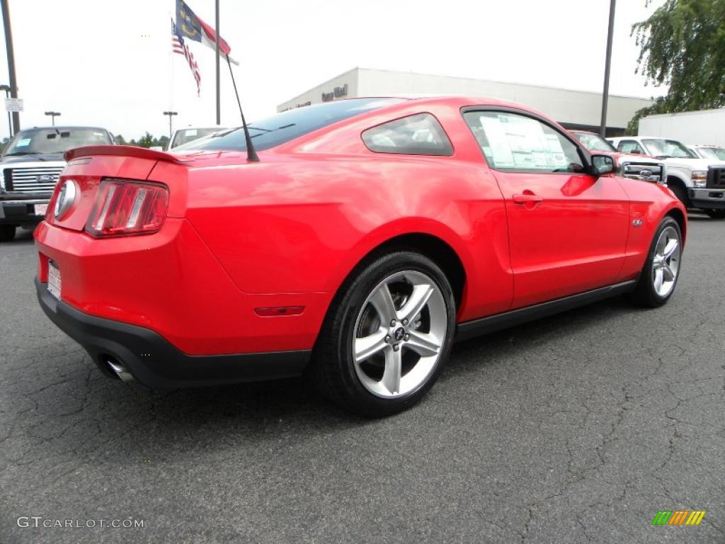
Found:
[[[666,307],[457,345],[423,403],[365,420],[297,381],[101,376],[38,307],[22,232],[0,244],[0,543],[723,543],[724,239],[691,215]],[[695,509],[697,527],[651,524]]]

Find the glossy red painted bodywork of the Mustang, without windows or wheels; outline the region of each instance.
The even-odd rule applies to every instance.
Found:
[[[682,205],[643,181],[490,169],[460,109],[497,104],[515,105],[412,100],[260,152],[257,163],[244,152],[76,154],[84,158],[58,186],[73,179],[80,194],[62,221],[36,230],[38,275],[46,279],[51,258],[65,302],[153,329],[194,355],[309,349],[355,265],[403,234],[435,236],[460,258],[459,322],[634,277],[663,215],[684,213]],[[375,154],[360,139],[370,126],[420,112],[442,123],[452,157]],[[162,228],[85,234],[102,177],[167,186]],[[634,218],[644,224],[633,227]],[[255,312],[281,307],[304,311]]]

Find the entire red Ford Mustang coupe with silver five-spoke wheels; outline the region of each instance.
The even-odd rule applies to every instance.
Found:
[[[38,300],[109,376],[151,387],[309,371],[407,408],[455,339],[674,291],[687,215],[557,123],[492,99],[361,98],[189,144],[67,153]],[[252,160],[249,160],[252,159]]]

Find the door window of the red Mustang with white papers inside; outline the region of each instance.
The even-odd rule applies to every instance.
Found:
[[[496,170],[584,172],[576,144],[539,120],[509,112],[465,112],[465,122]]]

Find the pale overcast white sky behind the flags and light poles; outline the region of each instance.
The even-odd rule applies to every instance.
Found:
[[[187,4],[214,25],[214,0]],[[662,0],[619,0],[610,94],[660,96],[637,75],[631,25]],[[220,0],[220,34],[239,60],[234,77],[247,120],[353,67],[454,75],[601,92],[610,0]],[[125,139],[145,131],[215,125],[215,59],[191,44],[171,51],[173,0],[9,0],[22,127],[96,125]],[[1,29],[0,29],[1,34]],[[8,80],[0,48],[0,83]],[[240,124],[221,66],[221,124]],[[0,123],[0,138],[7,135]]]

